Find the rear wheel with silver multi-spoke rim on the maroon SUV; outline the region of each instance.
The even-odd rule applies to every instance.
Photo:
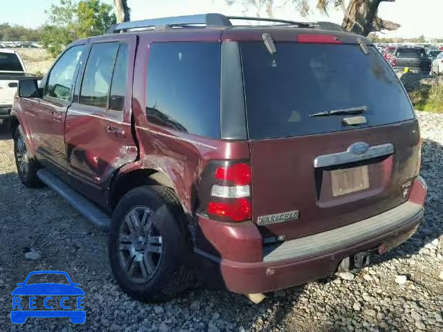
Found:
[[[125,194],[112,216],[108,244],[117,283],[139,301],[167,301],[192,283],[186,216],[168,187],[143,186]]]

